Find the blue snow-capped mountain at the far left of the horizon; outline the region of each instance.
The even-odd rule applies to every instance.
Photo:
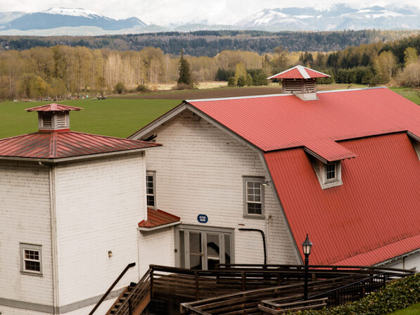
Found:
[[[82,8],[49,8],[46,11],[27,13],[0,25],[0,30],[47,30],[56,27],[100,27],[102,30],[122,30],[145,27],[138,18],[114,20]]]

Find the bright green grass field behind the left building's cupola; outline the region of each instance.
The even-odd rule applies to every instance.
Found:
[[[27,113],[25,108],[46,103],[52,102],[1,102],[0,139],[37,131],[37,113]],[[60,101],[59,103],[84,108],[79,112],[70,113],[72,130],[126,138],[178,105],[180,101],[108,99]]]

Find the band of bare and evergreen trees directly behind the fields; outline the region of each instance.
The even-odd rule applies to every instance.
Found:
[[[61,44],[0,51],[0,99],[148,91],[153,84],[179,81],[180,51],[165,53],[156,47],[118,51]],[[331,75],[320,83],[374,86],[391,81],[420,86],[419,51],[420,35],[329,52],[275,46],[268,53],[225,50],[212,57],[185,53],[182,62],[191,70],[192,82],[228,81],[231,86],[264,85],[269,75],[298,64]]]

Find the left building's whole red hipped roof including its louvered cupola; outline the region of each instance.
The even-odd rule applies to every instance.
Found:
[[[0,139],[0,159],[36,158],[58,161],[103,153],[137,152],[160,146],[158,143],[70,131],[70,110],[82,109],[56,103],[27,108],[28,112],[38,112],[39,131]]]

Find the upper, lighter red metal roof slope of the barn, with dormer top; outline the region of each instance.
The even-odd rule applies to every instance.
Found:
[[[420,107],[389,89],[317,95],[317,101],[279,95],[188,102],[264,151],[306,146],[329,161],[352,155],[331,141],[407,130],[420,135]]]

